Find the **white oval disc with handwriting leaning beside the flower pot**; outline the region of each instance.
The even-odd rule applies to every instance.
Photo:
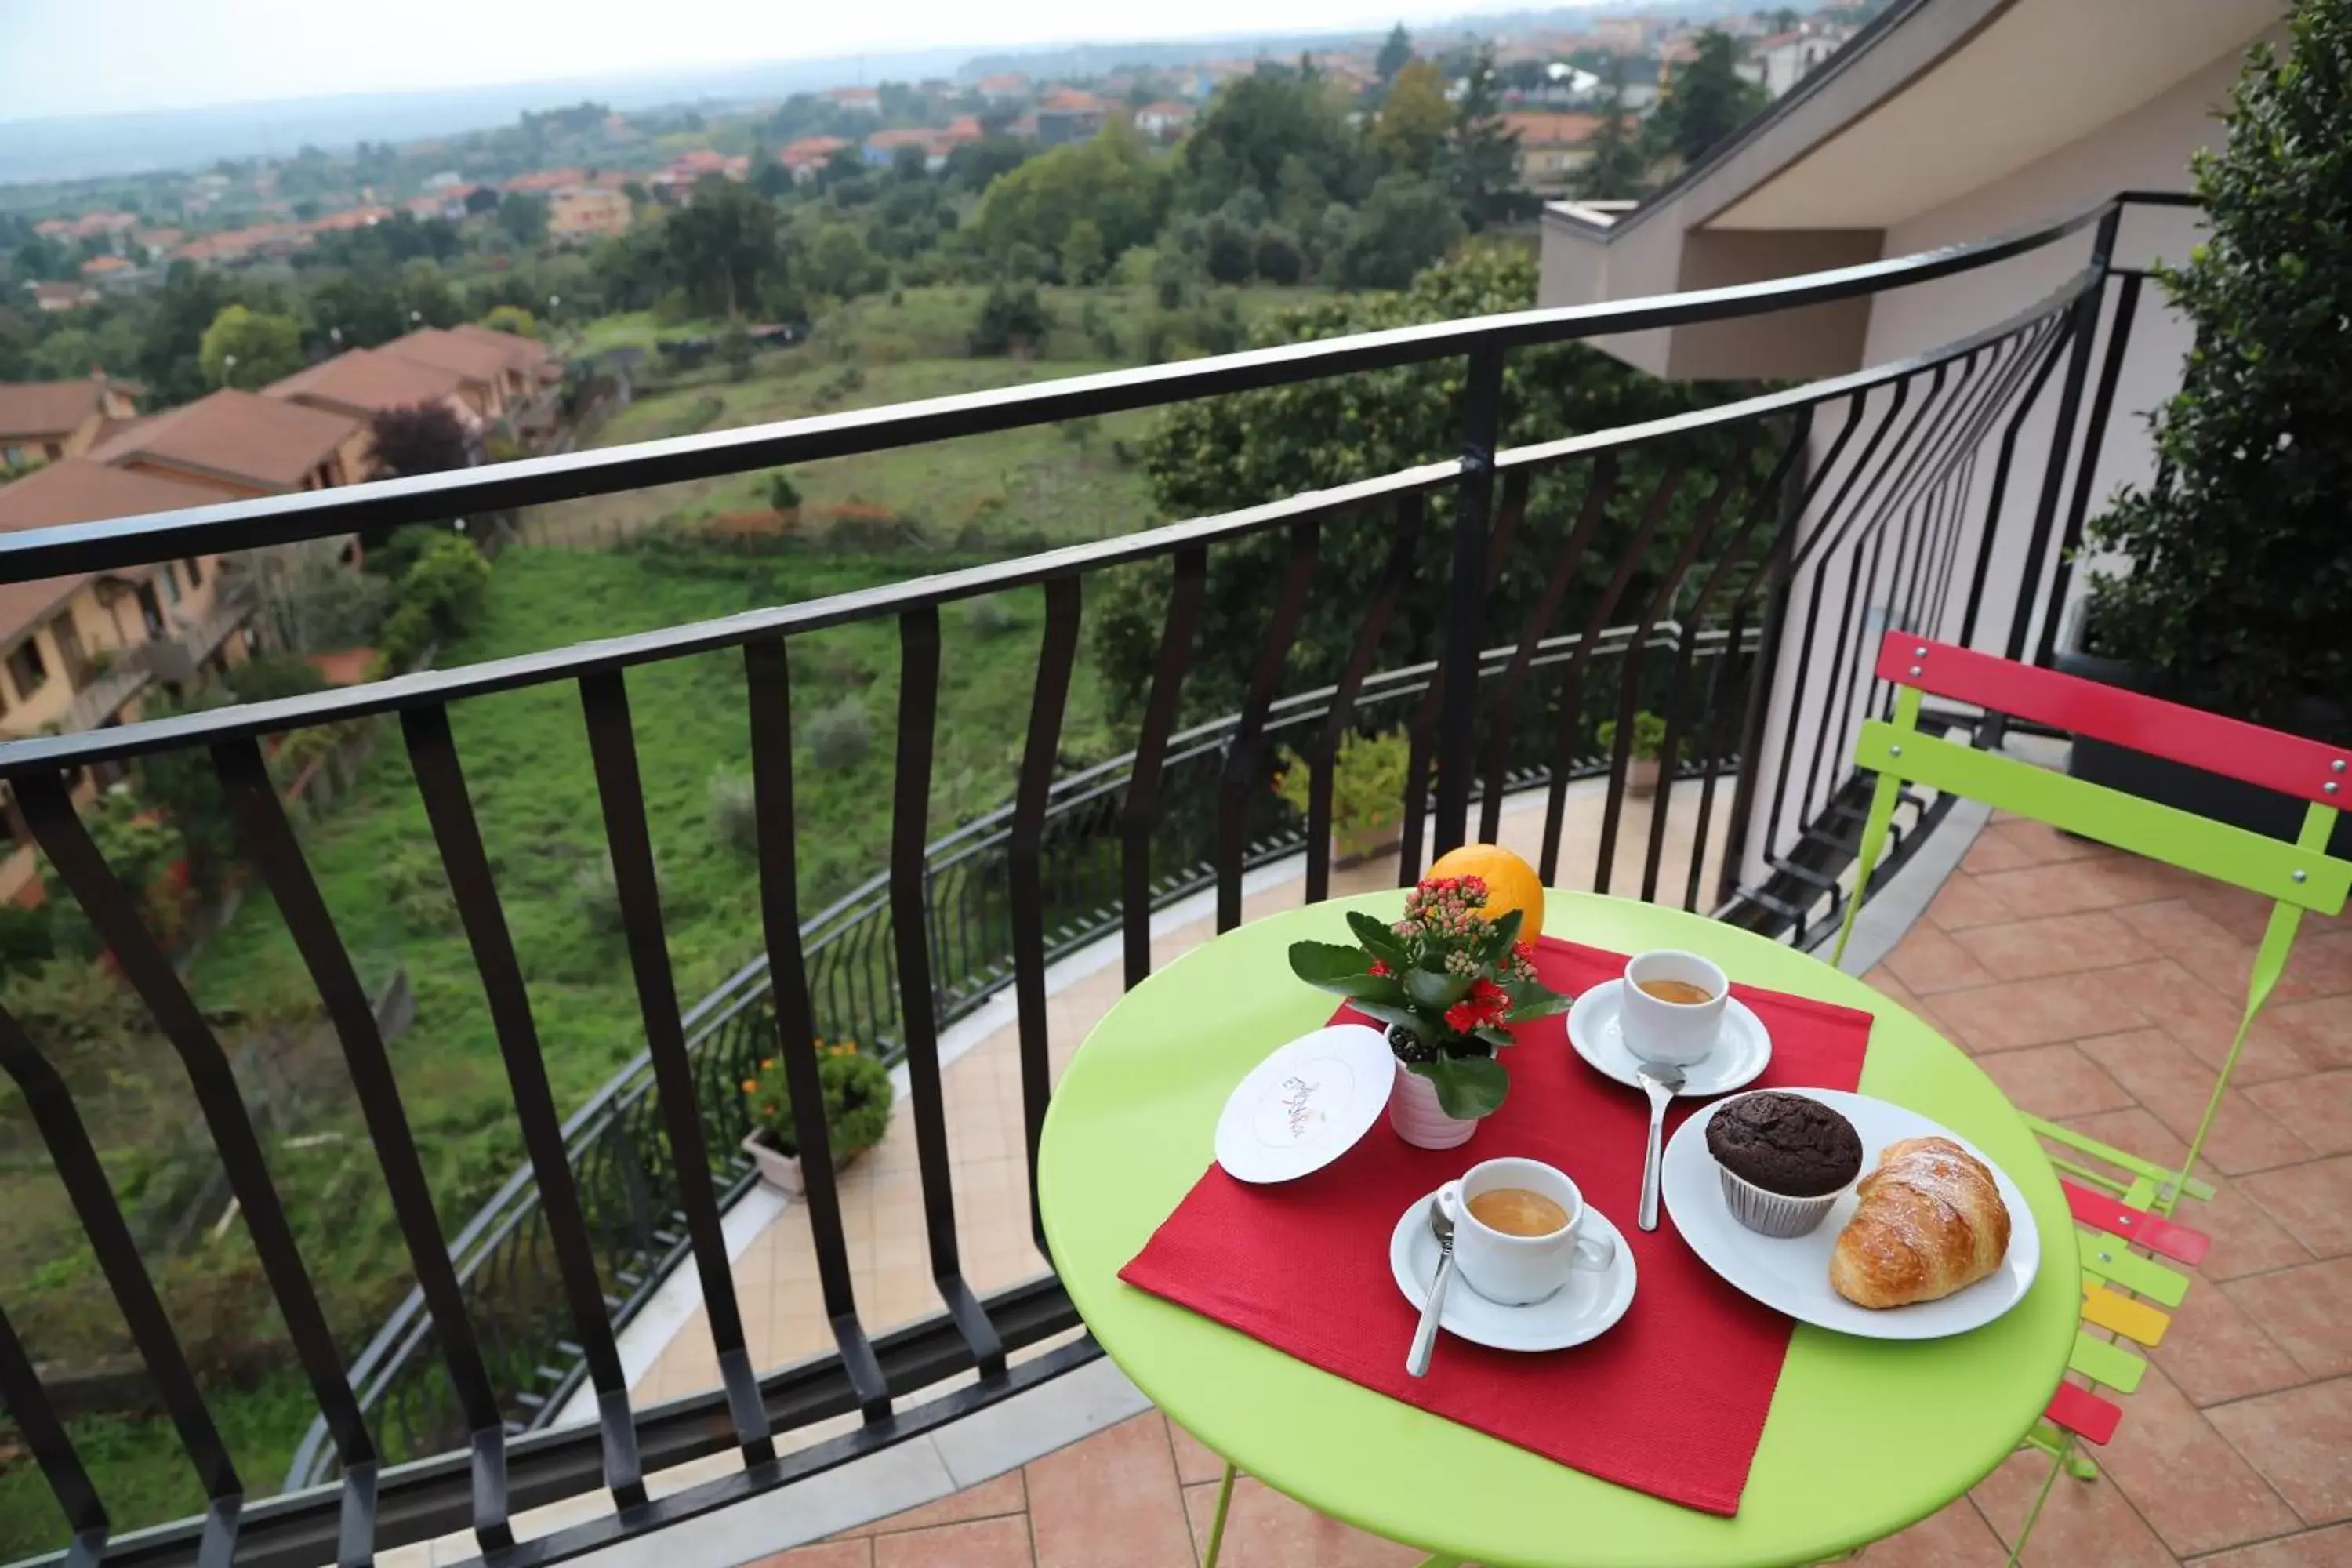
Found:
[[[1216,1164],[1242,1182],[1287,1182],[1322,1171],[1355,1147],[1388,1110],[1397,1058],[1362,1023],[1301,1034],[1225,1098]]]

